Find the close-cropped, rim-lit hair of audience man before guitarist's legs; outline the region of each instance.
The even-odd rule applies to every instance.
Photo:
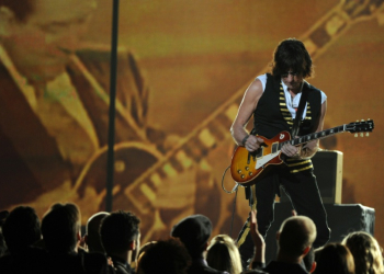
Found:
[[[293,216],[283,221],[280,228],[279,249],[285,254],[300,256],[305,248],[316,239],[316,226],[305,216]]]

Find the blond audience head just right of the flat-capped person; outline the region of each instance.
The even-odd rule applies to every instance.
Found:
[[[239,250],[227,235],[218,235],[211,240],[206,262],[211,267],[230,274],[239,274],[242,271]]]

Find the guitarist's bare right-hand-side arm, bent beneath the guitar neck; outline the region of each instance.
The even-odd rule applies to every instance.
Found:
[[[320,118],[318,121],[317,129],[315,130],[316,133],[323,130],[326,112],[327,112],[327,101],[324,101],[324,103],[321,104]],[[305,146],[298,146],[298,147],[292,146],[291,144],[286,144],[281,148],[281,151],[284,155],[295,159],[307,159],[313,157],[316,153],[318,149],[318,144],[319,144],[318,140],[312,140],[307,142]]]

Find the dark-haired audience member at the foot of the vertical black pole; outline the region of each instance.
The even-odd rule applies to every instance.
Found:
[[[134,273],[140,248],[140,220],[131,212],[114,212],[103,218],[100,227],[101,242],[118,274]]]

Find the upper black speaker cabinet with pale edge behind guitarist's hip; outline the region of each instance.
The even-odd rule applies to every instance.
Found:
[[[324,204],[341,204],[342,152],[337,150],[319,150],[312,158],[314,174]],[[281,191],[280,202],[289,202]]]

